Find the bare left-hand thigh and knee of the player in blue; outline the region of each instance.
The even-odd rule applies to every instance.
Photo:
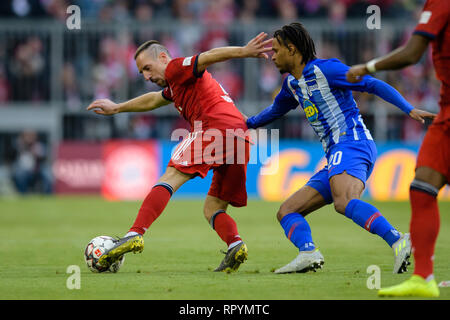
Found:
[[[282,203],[277,218],[281,221],[285,215],[292,212],[306,216],[326,204],[327,202],[316,189],[305,185]]]

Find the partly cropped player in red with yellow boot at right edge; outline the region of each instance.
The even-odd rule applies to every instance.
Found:
[[[433,260],[440,227],[436,197],[439,190],[450,183],[450,1],[428,0],[405,46],[367,64],[354,66],[347,73],[347,80],[355,82],[368,73],[415,64],[430,42],[436,76],[442,83],[441,110],[422,142],[410,186],[414,275],[399,285],[379,290],[380,296],[439,296],[433,276]]]

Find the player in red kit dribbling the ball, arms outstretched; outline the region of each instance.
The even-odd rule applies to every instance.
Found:
[[[87,110],[112,115],[118,112],[141,112],[174,103],[191,124],[191,133],[180,142],[166,172],[145,198],[137,218],[100,263],[112,263],[127,252],[141,252],[143,234],[163,212],[172,194],[188,180],[204,178],[213,170],[206,196],[205,218],[228,245],[225,258],[215,271],[235,271],[247,259],[247,247],[239,236],[235,221],[226,213],[228,205],[247,204],[246,169],[250,141],[248,128],[231,98],[206,68],[232,58],[268,58],[266,47],[271,40],[260,33],[246,46],[215,48],[191,57],[172,59],[167,48],[157,41],[142,44],[135,53],[136,65],[145,80],[164,89],[116,104],[107,99],[94,101]],[[233,145],[232,148],[228,146]],[[237,147],[241,146],[241,147]],[[211,151],[213,150],[213,151]]]

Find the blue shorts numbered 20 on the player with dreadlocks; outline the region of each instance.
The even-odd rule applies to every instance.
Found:
[[[326,155],[327,164],[309,179],[307,186],[316,189],[326,203],[333,202],[330,179],[344,171],[366,184],[377,158],[377,148],[373,140],[339,142]]]

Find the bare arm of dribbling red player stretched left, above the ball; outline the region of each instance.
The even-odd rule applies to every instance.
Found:
[[[158,91],[143,94],[123,103],[115,103],[109,99],[97,99],[86,110],[93,110],[97,114],[109,116],[120,112],[151,111],[171,102],[163,97],[162,91]]]

